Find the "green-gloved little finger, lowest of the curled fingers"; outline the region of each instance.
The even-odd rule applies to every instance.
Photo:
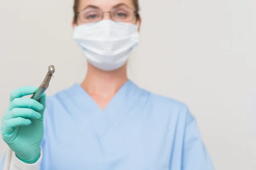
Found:
[[[3,134],[5,134],[5,133],[8,134],[8,133],[12,133],[14,127],[27,126],[27,125],[30,125],[32,122],[29,119],[25,119],[22,117],[16,117],[13,119],[9,119],[3,123],[5,123],[5,125],[1,126],[1,132]]]

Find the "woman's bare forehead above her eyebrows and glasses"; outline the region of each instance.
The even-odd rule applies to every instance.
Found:
[[[109,11],[113,6],[119,3],[124,3],[134,9],[133,0],[80,0],[79,11],[86,8],[88,5],[97,6],[103,11]]]

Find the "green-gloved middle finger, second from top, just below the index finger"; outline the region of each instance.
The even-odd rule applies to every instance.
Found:
[[[9,104],[9,111],[14,108],[31,108],[35,111],[41,111],[44,109],[44,106],[34,99],[29,98],[16,98]]]

